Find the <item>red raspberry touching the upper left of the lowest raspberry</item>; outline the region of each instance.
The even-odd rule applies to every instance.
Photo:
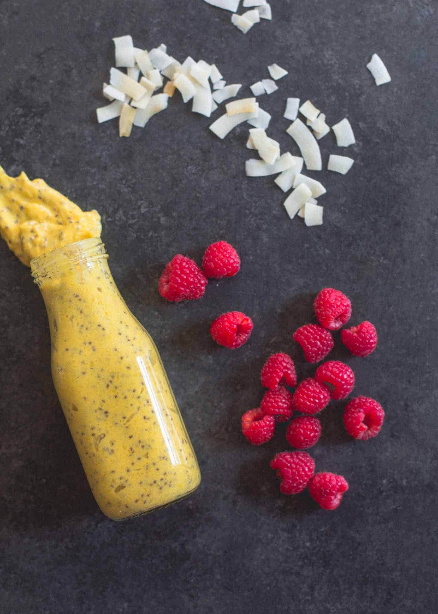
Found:
[[[304,491],[313,473],[315,461],[307,452],[280,452],[271,461],[271,468],[277,469],[282,478],[280,491],[283,495],[296,495]]]

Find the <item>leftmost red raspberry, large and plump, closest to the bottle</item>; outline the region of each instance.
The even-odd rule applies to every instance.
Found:
[[[179,303],[204,296],[207,283],[208,279],[194,260],[177,254],[161,273],[158,292],[167,301]]]

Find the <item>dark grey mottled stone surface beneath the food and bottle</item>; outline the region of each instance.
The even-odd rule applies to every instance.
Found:
[[[161,351],[201,464],[201,487],[178,505],[125,523],[96,507],[50,376],[45,309],[29,271],[0,244],[0,611],[5,614],[436,612],[437,573],[437,5],[433,0],[272,1],[274,19],[246,36],[201,0],[20,0],[0,14],[0,163],[43,177],[102,214],[121,293]],[[242,12],[242,10],[240,11]],[[269,135],[285,133],[287,96],[310,98],[333,124],[347,116],[356,145],[347,176],[309,173],[327,187],[325,224],[288,220],[272,178],[247,179],[247,126],[225,141],[179,96],[145,130],[119,139],[94,109],[113,62],[112,36],[166,42],[218,64],[228,83],[289,71],[259,99]],[[393,81],[376,87],[372,53]],[[219,114],[217,112],[215,117]],[[199,262],[218,238],[242,258],[236,278],[203,300],[165,303],[156,281],[177,252]],[[323,286],[370,319],[377,351],[332,354],[356,373],[356,393],[386,411],[382,433],[350,440],[332,403],[312,450],[317,470],[350,491],[335,512],[305,493],[285,497],[269,468],[284,428],[248,445],[240,416],[262,394],[258,372],[291,352]],[[235,352],[209,338],[223,311],[252,316]]]

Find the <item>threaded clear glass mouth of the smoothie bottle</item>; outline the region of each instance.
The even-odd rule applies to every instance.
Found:
[[[83,268],[93,268],[102,258],[108,258],[105,246],[100,237],[92,237],[33,258],[31,272],[34,281],[40,284],[48,277],[61,278]]]

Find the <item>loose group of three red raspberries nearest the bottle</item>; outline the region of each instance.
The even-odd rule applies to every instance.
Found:
[[[240,258],[226,241],[216,241],[207,247],[202,258],[202,270],[182,254],[175,255],[158,280],[158,292],[167,301],[179,303],[196,300],[206,292],[208,279],[234,277],[240,270]],[[225,348],[240,348],[253,330],[252,319],[241,311],[229,311],[215,319],[210,326],[212,338]]]

